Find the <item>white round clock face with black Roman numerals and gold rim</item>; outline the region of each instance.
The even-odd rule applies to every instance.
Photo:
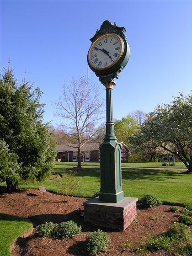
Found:
[[[89,64],[94,69],[111,68],[121,58],[124,43],[117,34],[105,34],[97,38],[88,52]]]

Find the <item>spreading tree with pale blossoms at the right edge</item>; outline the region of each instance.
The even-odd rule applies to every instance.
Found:
[[[192,172],[192,95],[174,97],[146,115],[140,130],[129,137],[134,145],[156,149],[160,147],[181,160]]]

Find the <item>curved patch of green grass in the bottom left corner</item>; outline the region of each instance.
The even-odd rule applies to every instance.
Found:
[[[11,256],[10,246],[16,237],[32,229],[28,219],[0,213],[0,256]]]

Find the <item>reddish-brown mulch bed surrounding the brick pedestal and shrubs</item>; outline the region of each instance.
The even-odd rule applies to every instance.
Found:
[[[39,190],[18,189],[13,193],[0,193],[0,212],[17,215],[30,219],[34,228],[27,237],[20,237],[13,246],[13,256],[81,256],[85,246],[85,239],[91,232],[98,228],[84,223],[80,213],[83,212],[83,202],[86,198],[70,197],[67,203],[61,202],[59,195],[45,192],[44,196]],[[122,251],[121,245],[127,241],[135,244],[146,239],[149,235],[162,234],[171,227],[171,223],[178,220],[179,214],[170,211],[170,205],[161,205],[154,208],[143,208],[137,204],[137,218],[123,231],[102,228],[110,235],[112,245],[103,256],[133,256],[138,255],[128,251]],[[181,207],[180,211],[181,211]],[[157,216],[156,220],[149,219],[150,216]],[[60,223],[73,220],[82,226],[80,235],[68,240],[58,240],[49,237],[41,238],[36,233],[36,226],[48,221]],[[46,249],[45,249],[46,248]],[[174,255],[163,251],[153,252],[153,256]]]

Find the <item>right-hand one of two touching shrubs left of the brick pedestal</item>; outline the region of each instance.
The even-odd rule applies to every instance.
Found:
[[[73,237],[81,231],[81,226],[77,226],[72,220],[62,222],[59,224],[57,229],[57,235],[62,238]]]

